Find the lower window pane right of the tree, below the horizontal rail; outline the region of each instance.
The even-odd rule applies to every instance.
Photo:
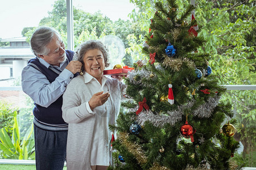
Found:
[[[233,159],[245,163],[245,167],[255,165],[255,96],[255,90],[228,90],[221,97],[221,100],[225,103],[232,104],[233,119],[236,120],[234,128],[237,130],[234,139],[239,141],[241,145]],[[230,118],[226,118],[223,125],[228,121],[230,121]]]

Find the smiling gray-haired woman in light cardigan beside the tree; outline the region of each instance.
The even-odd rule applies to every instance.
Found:
[[[67,168],[107,169],[110,165],[109,124],[115,124],[125,84],[103,75],[109,54],[101,41],[81,44],[77,60],[83,75],[73,78],[63,95],[68,125]]]

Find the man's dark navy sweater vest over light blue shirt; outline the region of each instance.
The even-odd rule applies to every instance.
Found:
[[[74,52],[71,50],[65,50],[68,61],[72,61]],[[39,62],[38,58],[32,58],[28,63],[33,63],[34,65],[38,66],[42,74],[46,75],[47,79],[49,80],[50,83],[52,83],[59,74],[55,73],[51,69],[48,69],[46,66],[42,65],[42,63]],[[75,74],[74,76],[76,76]],[[63,97],[62,95],[54,101],[49,107],[42,107],[36,103],[35,107],[33,109],[33,114],[36,118],[36,120],[43,122],[45,124],[52,124],[52,125],[57,125],[57,124],[62,124],[62,125],[67,125],[67,123],[63,120],[62,118],[62,111],[61,107],[63,104]],[[60,125],[61,126],[61,125]]]

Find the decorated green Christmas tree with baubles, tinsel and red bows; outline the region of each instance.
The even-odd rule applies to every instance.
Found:
[[[197,50],[205,41],[195,6],[179,12],[167,0],[155,8],[143,45],[149,59],[125,78],[130,100],[110,126],[117,130],[111,169],[230,169],[235,120],[220,100],[226,89],[211,74],[209,54]]]

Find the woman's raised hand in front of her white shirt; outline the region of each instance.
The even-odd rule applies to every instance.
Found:
[[[90,109],[93,110],[94,108],[104,104],[108,100],[109,96],[109,92],[105,92],[105,94],[103,94],[103,91],[94,94],[89,101]]]

